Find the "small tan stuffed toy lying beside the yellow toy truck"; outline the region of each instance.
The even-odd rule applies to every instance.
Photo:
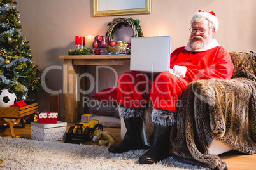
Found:
[[[99,141],[99,145],[108,146],[108,147],[113,146],[116,143],[115,137],[113,136],[112,133],[108,131],[99,131],[97,128],[94,131],[94,137],[92,138],[92,141],[94,142]]]

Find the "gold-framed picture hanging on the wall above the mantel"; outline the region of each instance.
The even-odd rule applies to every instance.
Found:
[[[151,0],[93,0],[93,16],[151,13]]]

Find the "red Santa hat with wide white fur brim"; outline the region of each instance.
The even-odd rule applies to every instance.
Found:
[[[206,11],[201,11],[199,10],[196,15],[194,15],[191,19],[191,25],[194,22],[195,18],[197,18],[198,16],[202,16],[204,18],[206,18],[206,20],[208,20],[209,22],[213,23],[213,26],[215,27],[215,30],[217,31],[218,29],[218,19],[215,15],[215,13],[213,11],[211,12],[206,12]]]

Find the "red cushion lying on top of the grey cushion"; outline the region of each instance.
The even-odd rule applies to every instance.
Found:
[[[107,88],[95,93],[92,98],[104,103],[117,102],[117,88]]]

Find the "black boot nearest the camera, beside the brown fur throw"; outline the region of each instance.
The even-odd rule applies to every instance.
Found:
[[[139,157],[141,164],[153,164],[169,157],[171,126],[155,124],[153,132],[153,146],[144,155]]]

